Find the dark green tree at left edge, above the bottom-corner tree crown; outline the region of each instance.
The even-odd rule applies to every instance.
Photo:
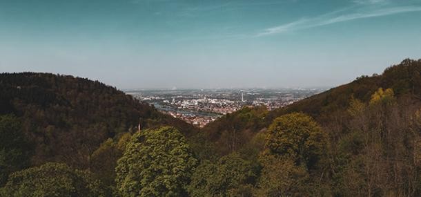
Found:
[[[14,115],[0,115],[0,187],[13,171],[28,165],[29,144]]]

